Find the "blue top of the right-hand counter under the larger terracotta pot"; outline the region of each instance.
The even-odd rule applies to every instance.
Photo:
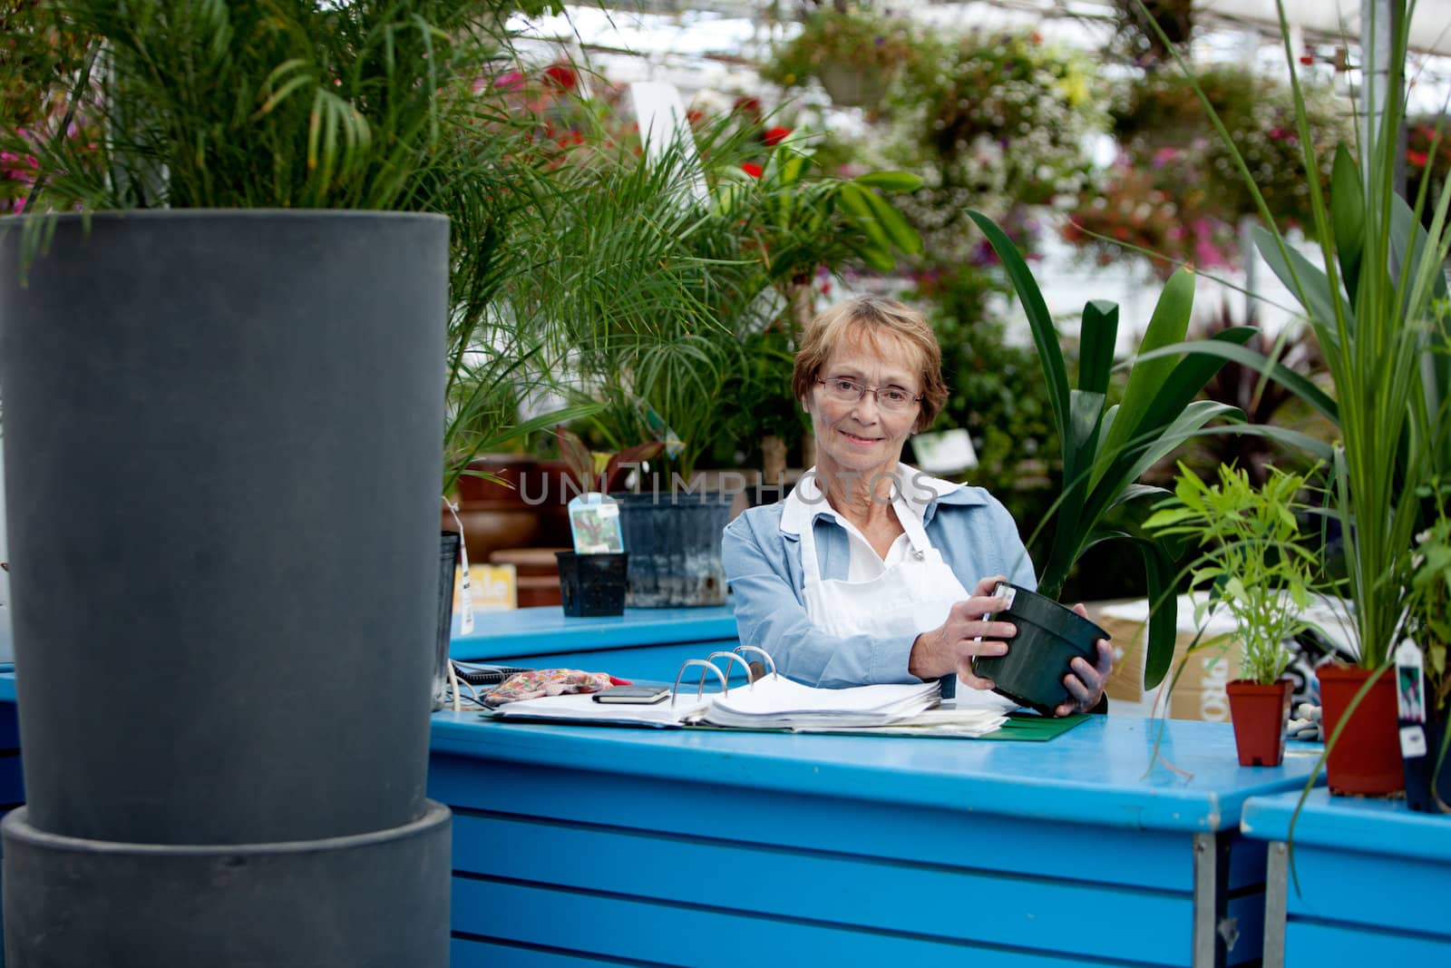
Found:
[[[1259,840],[1291,839],[1290,819],[1299,803],[1299,792],[1255,797],[1245,805],[1241,829]],[[1322,787],[1310,791],[1294,820],[1293,843],[1447,862],[1451,817],[1413,813],[1405,800],[1332,797]]]

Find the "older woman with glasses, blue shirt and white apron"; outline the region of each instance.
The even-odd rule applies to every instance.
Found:
[[[817,464],[785,501],[726,527],[740,640],[820,686],[943,678],[952,695],[955,675],[991,689],[972,657],[1004,655],[1014,634],[988,620],[1004,607],[992,588],[1003,576],[1037,582],[1013,518],[987,491],[901,463],[908,434],[948,399],[932,327],[891,299],[839,303],[807,327],[792,389],[811,414]],[[1055,711],[1104,708],[1111,662],[1107,641],[1097,663],[1074,659],[1069,700]]]

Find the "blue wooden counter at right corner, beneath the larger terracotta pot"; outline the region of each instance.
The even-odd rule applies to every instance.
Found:
[[[1451,959],[1451,817],[1316,789],[1291,837],[1297,803],[1255,797],[1242,820],[1245,836],[1270,845],[1265,965],[1271,955],[1316,968]]]

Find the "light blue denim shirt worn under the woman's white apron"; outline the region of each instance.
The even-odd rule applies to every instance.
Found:
[[[942,489],[923,509],[923,525],[962,586],[971,592],[982,578],[1007,575],[1014,585],[1036,589],[1033,563],[1007,508],[982,488],[934,483]],[[907,672],[916,636],[839,637],[811,624],[802,591],[800,527],[815,528],[823,579],[846,579],[847,534],[826,504],[813,508],[808,522],[786,521],[784,527],[785,508],[784,501],[750,508],[726,525],[726,581],[734,594],[741,644],[765,649],[782,675],[808,685],[918,682]]]

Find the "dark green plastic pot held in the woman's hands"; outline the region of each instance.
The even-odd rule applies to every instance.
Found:
[[[972,660],[974,675],[992,679],[994,692],[1029,707],[1043,715],[1068,700],[1064,676],[1068,663],[1082,656],[1097,660],[1097,641],[1107,639],[1098,625],[1078,612],[1059,605],[1052,598],[1017,585],[1000,583],[994,595],[1007,598],[1007,608],[994,621],[1017,625],[1008,640],[1006,656],[984,656]]]

